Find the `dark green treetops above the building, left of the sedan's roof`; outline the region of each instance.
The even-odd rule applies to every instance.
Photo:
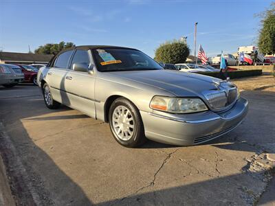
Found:
[[[53,43],[47,43],[45,45],[39,46],[39,48],[34,50],[35,54],[58,54],[58,52],[61,52],[63,49],[67,49],[70,47],[75,47],[74,43],[61,41],[58,44]]]

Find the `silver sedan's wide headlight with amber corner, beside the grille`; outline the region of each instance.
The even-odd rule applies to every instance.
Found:
[[[208,110],[206,104],[199,98],[169,98],[163,96],[153,97],[150,108],[168,113],[197,113]]]

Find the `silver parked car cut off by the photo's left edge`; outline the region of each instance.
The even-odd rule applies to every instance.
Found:
[[[4,87],[14,87],[24,80],[24,74],[17,65],[0,65],[0,84]]]

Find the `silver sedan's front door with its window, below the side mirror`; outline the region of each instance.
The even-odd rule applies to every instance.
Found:
[[[96,117],[96,105],[94,100],[94,84],[96,76],[86,71],[74,71],[75,63],[91,65],[91,53],[87,50],[77,49],[70,64],[70,70],[65,76],[65,89],[69,98],[70,106],[79,111]]]

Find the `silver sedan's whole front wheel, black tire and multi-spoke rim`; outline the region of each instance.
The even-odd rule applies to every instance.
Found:
[[[140,112],[125,98],[118,98],[111,104],[109,125],[113,137],[122,146],[135,148],[146,141]]]

